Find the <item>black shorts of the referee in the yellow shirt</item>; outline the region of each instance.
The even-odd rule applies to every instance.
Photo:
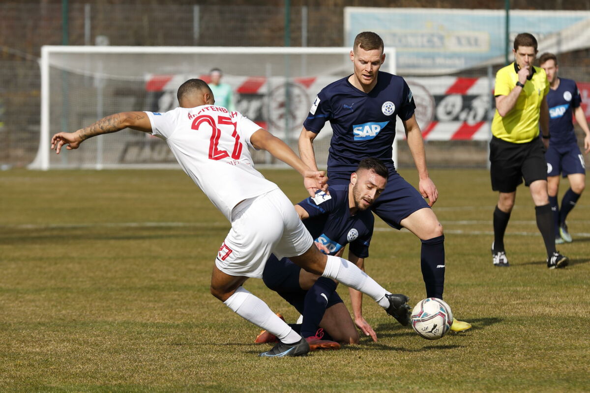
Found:
[[[525,179],[525,186],[535,180],[547,180],[545,146],[540,138],[527,143],[510,143],[494,136],[490,142],[491,189],[512,193]]]

